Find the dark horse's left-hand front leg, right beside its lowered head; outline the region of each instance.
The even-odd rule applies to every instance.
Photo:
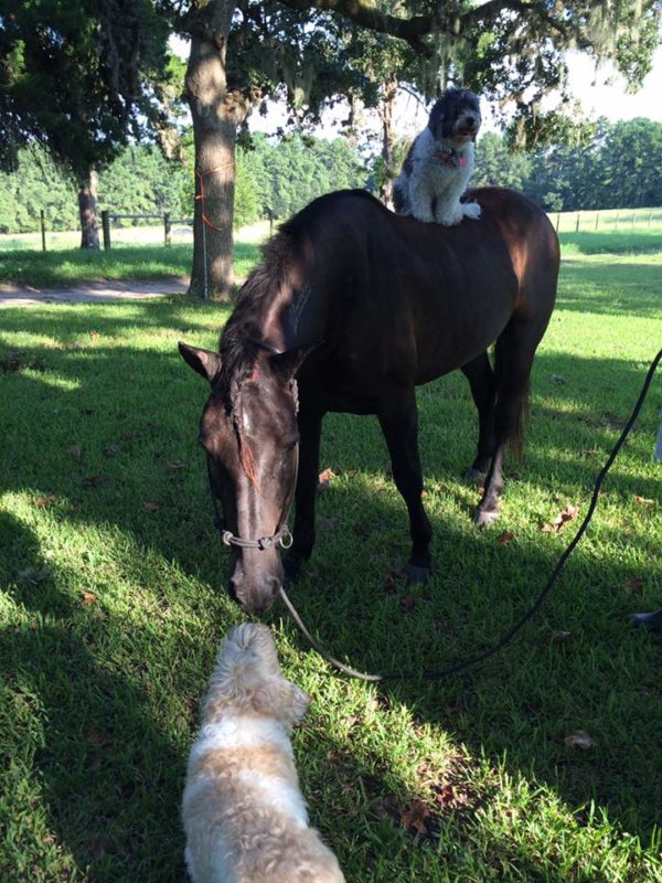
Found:
[[[286,583],[291,583],[297,578],[301,564],[308,561],[314,545],[314,503],[319,477],[322,417],[323,413],[301,405],[293,542],[282,560]]]

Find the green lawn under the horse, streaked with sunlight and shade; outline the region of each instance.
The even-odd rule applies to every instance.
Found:
[[[661,270],[662,254],[569,254],[525,458],[508,464],[492,530],[474,529],[476,490],[459,480],[476,434],[467,384],[419,391],[425,591],[388,576],[408,531],[376,421],[327,419],[327,529],[292,597],[333,651],[369,670],[429,668],[491,645],[528,607],[577,522],[541,529],[567,503],[586,512],[662,340]],[[186,754],[239,613],[195,442],[206,390],[175,342],[213,347],[226,316],[185,299],[2,312],[0,880],[184,880]],[[348,881],[662,881],[662,639],[623,619],[662,604],[660,390],[658,377],[548,602],[480,668],[349,681],[274,610],[284,668],[313,696],[295,734],[302,788]],[[594,747],[565,746],[577,730]]]

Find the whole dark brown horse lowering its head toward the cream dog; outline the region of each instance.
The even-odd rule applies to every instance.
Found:
[[[480,221],[442,227],[394,215],[362,191],[322,196],[265,247],[220,353],[180,344],[212,385],[200,440],[232,550],[231,591],[245,610],[267,609],[282,583],[277,546],[291,541],[285,522],[295,483],[288,576],[312,552],[329,411],[377,415],[409,512],[406,574],[425,581],[431,530],[421,504],[415,387],[461,369],[479,414],[469,475],[487,472],[476,521],[496,518],[504,446],[520,440],[559,257],[552,225],[525,196],[490,188],[472,199]],[[492,370],[487,349],[494,341]]]

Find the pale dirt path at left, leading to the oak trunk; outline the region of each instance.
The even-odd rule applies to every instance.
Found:
[[[104,304],[115,300],[143,300],[180,295],[189,288],[189,279],[151,281],[104,281],[63,286],[62,288],[33,288],[31,286],[0,285],[0,308],[34,307],[43,304]]]

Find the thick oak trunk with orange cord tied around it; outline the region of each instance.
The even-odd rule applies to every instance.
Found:
[[[229,297],[233,285],[236,132],[250,110],[250,98],[228,89],[226,82],[225,51],[234,8],[225,0],[210,0],[190,19],[185,79],[195,141],[191,291],[222,299]]]

